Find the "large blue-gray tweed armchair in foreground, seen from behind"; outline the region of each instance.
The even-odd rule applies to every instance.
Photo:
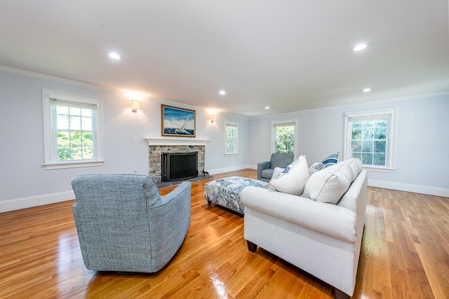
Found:
[[[85,174],[72,181],[73,214],[89,270],[157,272],[190,225],[190,182],[161,197],[152,176]]]

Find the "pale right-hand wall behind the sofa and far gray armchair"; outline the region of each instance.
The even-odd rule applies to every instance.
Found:
[[[344,148],[344,113],[396,107],[394,173],[368,174],[370,186],[449,197],[449,92],[297,111],[250,120],[249,164],[269,160],[272,121],[297,119],[297,152],[309,165]]]

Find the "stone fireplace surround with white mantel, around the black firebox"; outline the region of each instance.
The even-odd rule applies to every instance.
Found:
[[[204,169],[204,159],[206,154],[206,144],[208,140],[189,139],[189,138],[159,138],[159,139],[146,139],[148,141],[148,162],[149,162],[149,175],[153,176],[156,183],[160,183],[161,180],[161,163],[162,153],[188,153],[198,152],[198,171],[199,175],[202,175],[201,169]]]

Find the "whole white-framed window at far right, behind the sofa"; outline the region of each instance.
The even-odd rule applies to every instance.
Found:
[[[345,114],[345,159],[364,167],[393,169],[394,109]]]

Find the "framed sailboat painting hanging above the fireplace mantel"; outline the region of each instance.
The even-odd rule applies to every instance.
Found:
[[[195,137],[195,111],[161,105],[162,136]]]

